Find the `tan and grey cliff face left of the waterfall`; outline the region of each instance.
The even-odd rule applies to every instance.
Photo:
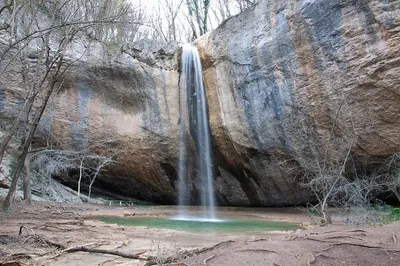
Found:
[[[55,98],[52,130],[74,138],[117,141],[117,163],[99,179],[126,196],[174,203],[179,158],[178,73],[175,47],[89,57],[70,71]],[[154,52],[154,53],[153,53]],[[108,62],[107,62],[108,59]]]

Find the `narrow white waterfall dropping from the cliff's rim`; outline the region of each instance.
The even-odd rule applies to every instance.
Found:
[[[187,218],[184,206],[190,204],[191,187],[193,182],[197,182],[196,185],[200,190],[203,206],[203,217],[200,219],[213,221],[216,219],[210,126],[200,56],[195,46],[191,44],[183,45],[181,68],[178,218]],[[193,161],[189,152],[190,137],[193,137],[196,145],[196,160]],[[191,176],[194,166],[196,167],[194,171],[196,173],[195,181]]]

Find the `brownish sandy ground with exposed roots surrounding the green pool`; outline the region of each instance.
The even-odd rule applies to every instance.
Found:
[[[174,207],[16,205],[12,213],[0,213],[0,265],[400,265],[399,222],[320,227],[299,209],[224,208],[219,213],[291,221],[304,229],[210,235],[105,224],[94,218],[164,217],[176,214]],[[75,252],[73,247],[136,254],[139,259]]]

